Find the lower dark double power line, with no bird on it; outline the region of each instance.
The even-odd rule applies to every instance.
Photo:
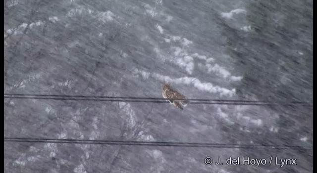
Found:
[[[196,147],[196,148],[245,148],[245,149],[313,149],[299,145],[241,145],[225,143],[190,143],[190,142],[159,142],[159,141],[128,141],[128,140],[86,140],[86,139],[52,139],[52,138],[22,138],[4,137],[4,142],[28,143],[73,143],[92,145],[132,145],[132,146],[164,146],[164,147]]]

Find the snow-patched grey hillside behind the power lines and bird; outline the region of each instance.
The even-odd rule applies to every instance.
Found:
[[[312,4],[4,2],[4,92],[312,102]],[[4,99],[4,136],[313,143],[307,107]],[[296,166],[205,165],[207,156]],[[4,143],[5,173],[311,173],[312,150]]]

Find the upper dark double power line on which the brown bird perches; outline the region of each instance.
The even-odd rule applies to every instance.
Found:
[[[86,101],[111,101],[111,102],[151,102],[168,103],[165,98],[156,97],[111,97],[111,96],[87,96],[87,95],[49,95],[49,94],[4,94],[4,98],[14,99],[51,99],[51,100],[86,100]],[[191,104],[226,104],[226,105],[302,105],[312,107],[309,102],[273,102],[273,101],[254,101],[254,100],[224,100],[224,99],[174,99],[188,100]]]

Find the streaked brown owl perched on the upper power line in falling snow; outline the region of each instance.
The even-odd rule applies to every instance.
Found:
[[[188,100],[186,97],[173,89],[170,85],[164,84],[162,85],[162,95],[164,98],[167,98],[169,103],[183,110],[183,106],[187,106]],[[186,100],[173,100],[173,99],[186,99]]]

